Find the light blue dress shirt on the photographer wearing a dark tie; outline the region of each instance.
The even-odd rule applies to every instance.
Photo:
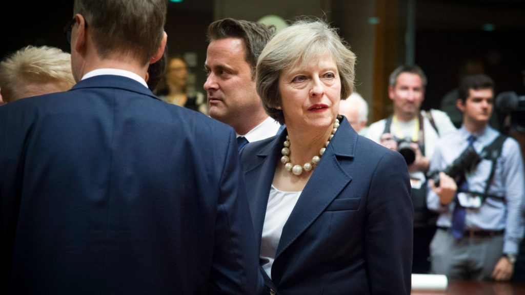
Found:
[[[430,162],[429,171],[443,171],[467,148],[470,132],[462,126],[458,131],[444,136],[438,142]],[[486,127],[481,132],[472,134],[477,140],[474,148],[478,154],[497,138],[499,132]],[[483,159],[466,178],[470,191],[484,192],[492,168],[492,161]],[[505,229],[503,253],[517,253],[520,240],[523,238],[523,205],[525,204],[525,177],[523,159],[516,140],[508,138],[503,143],[501,155],[497,160],[496,171],[489,186],[488,194],[501,197],[486,198],[480,208],[467,208],[466,229]],[[503,202],[501,202],[503,201]],[[448,205],[439,203],[439,197],[429,188],[427,206],[440,213],[438,226],[450,227],[455,202]]]

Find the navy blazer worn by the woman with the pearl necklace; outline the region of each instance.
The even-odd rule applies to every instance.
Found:
[[[258,248],[287,133],[241,151]],[[271,281],[261,268],[267,286],[278,294],[409,294],[413,209],[401,154],[344,118],[312,173],[282,230]]]

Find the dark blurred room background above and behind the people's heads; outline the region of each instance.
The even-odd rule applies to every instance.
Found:
[[[72,3],[17,1],[9,9],[4,4],[0,57],[27,45],[69,51],[62,28],[72,17]],[[523,0],[170,1],[168,53],[184,56],[188,82],[204,92],[209,23],[233,17],[282,27],[300,16],[320,17],[338,27],[356,53],[356,90],[370,104],[369,122],[392,112],[388,75],[402,64],[417,64],[428,77],[423,109],[439,108],[460,76],[472,70],[492,77],[496,93],[525,95]]]

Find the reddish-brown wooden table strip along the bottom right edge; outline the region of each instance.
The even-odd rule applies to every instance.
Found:
[[[523,295],[525,282],[448,281],[445,291],[412,290],[411,295]]]

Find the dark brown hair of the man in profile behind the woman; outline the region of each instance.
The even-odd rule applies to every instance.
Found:
[[[246,48],[245,59],[251,67],[252,77],[255,78],[257,59],[274,34],[274,27],[247,20],[224,18],[209,24],[206,36],[208,41],[224,38],[242,39]]]

